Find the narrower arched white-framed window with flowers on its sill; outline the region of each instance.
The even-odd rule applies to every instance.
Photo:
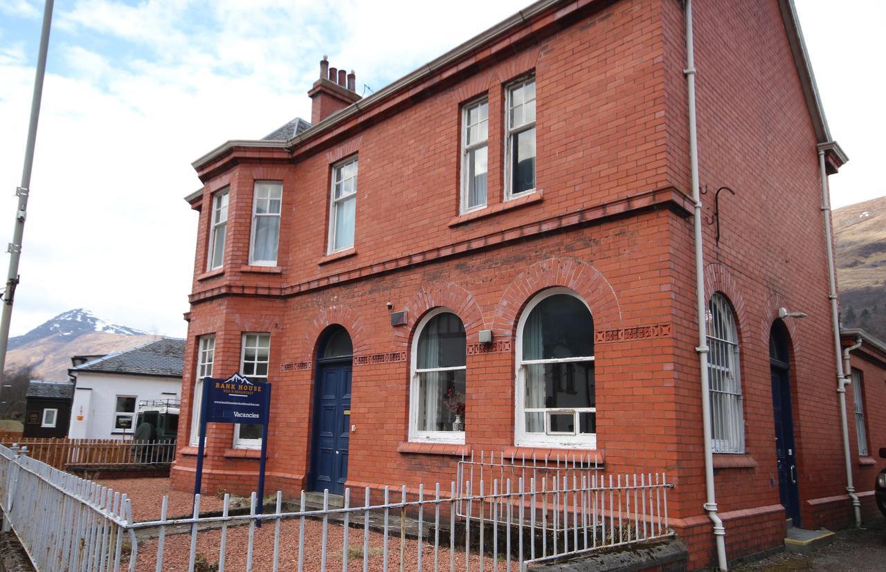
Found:
[[[409,440],[464,443],[465,355],[461,319],[439,308],[418,323],[412,346]]]

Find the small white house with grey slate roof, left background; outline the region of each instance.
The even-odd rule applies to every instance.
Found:
[[[71,367],[75,385],[68,437],[131,436],[142,402],[181,398],[183,363],[184,340],[165,337]]]

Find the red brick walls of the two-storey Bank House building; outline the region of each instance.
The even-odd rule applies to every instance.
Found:
[[[805,528],[844,526],[842,437],[830,330],[816,133],[779,3],[755,11],[696,7],[703,213],[720,197],[720,240],[704,225],[705,288],[734,307],[744,454],[716,455],[730,559],[781,545],[784,509],[773,448],[769,329],[788,319]],[[470,54],[393,89],[287,147],[232,144],[202,160],[199,232],[188,314],[183,412],[198,336],[215,335],[214,374],[237,370],[241,335],[270,333],[274,383],[268,490],[293,495],[311,470],[315,363],[325,329],[354,344],[348,483],[433,486],[470,450],[515,447],[517,321],[542,290],[564,287],[594,319],[596,435],[606,473],[665,471],[670,516],[690,566],[712,558],[703,512],[685,29],[680,2],[562,2]],[[504,86],[534,73],[537,190],[505,201]],[[489,104],[485,208],[459,213],[461,104]],[[347,110],[342,113],[347,113]],[[335,117],[335,116],[333,116]],[[327,255],[330,166],[360,161],[354,249]],[[277,267],[250,267],[253,182],[283,182]],[[229,189],[224,264],[206,273],[211,196]],[[391,312],[405,311],[392,326]],[[410,443],[410,351],[416,324],[446,307],[467,334],[465,444]],[[479,344],[491,329],[493,344]],[[882,389],[882,388],[881,388]],[[850,408],[851,411],[851,408]],[[180,443],[190,442],[183,414]],[[873,423],[874,417],[870,418]],[[882,434],[871,426],[871,439]],[[254,451],[211,426],[204,490],[247,491]],[[192,483],[180,451],[176,486]],[[859,490],[873,469],[859,468]],[[773,481],[774,479],[774,481]],[[865,498],[866,506],[872,499]]]

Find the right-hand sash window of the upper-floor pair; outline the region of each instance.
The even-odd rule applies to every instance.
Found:
[[[535,190],[535,78],[505,89],[505,200]]]

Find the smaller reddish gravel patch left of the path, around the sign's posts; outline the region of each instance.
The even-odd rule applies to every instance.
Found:
[[[159,519],[163,497],[169,496],[169,518],[190,516],[193,511],[194,496],[187,491],[173,491],[168,478],[152,479],[107,479],[97,483],[125,492],[132,503],[132,515],[136,522]],[[200,512],[221,510],[222,499],[211,495],[200,497]]]

